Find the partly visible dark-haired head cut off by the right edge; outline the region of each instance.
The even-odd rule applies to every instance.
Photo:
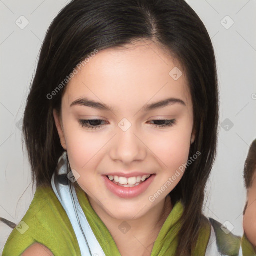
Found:
[[[243,229],[248,240],[256,246],[256,139],[250,145],[243,176],[247,190]]]

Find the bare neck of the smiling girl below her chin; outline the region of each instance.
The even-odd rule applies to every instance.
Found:
[[[90,200],[89,198],[89,201],[97,215],[109,230],[122,256],[151,255],[154,241],[173,208],[170,196],[167,195],[164,200],[159,202],[154,208],[148,211],[147,214],[140,218],[122,220],[112,218],[105,214],[100,207],[94,205],[93,200]],[[122,221],[127,222],[131,227],[126,233],[122,233],[119,229],[119,225]]]

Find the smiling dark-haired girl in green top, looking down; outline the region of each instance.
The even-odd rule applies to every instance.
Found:
[[[217,124],[213,47],[185,1],[71,1],[27,99],[37,189],[3,256],[242,255],[202,214]]]

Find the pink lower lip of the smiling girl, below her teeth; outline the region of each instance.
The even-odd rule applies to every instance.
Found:
[[[106,175],[103,175],[104,182],[109,191],[121,198],[132,198],[143,193],[154,180],[155,174],[152,174],[146,181],[133,187],[118,186],[110,181]]]

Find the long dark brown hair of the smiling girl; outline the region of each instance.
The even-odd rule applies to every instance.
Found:
[[[184,0],[72,0],[51,23],[30,86],[23,136],[36,185],[50,186],[63,152],[52,111],[61,107],[61,89],[47,97],[94,49],[151,39],[183,66],[194,112],[195,141],[189,157],[201,153],[170,192],[184,204],[177,255],[190,255],[204,216],[204,190],[216,154],[218,86],[208,32]],[[63,84],[63,83],[62,83]],[[68,86],[68,82],[65,84]],[[51,94],[52,95],[52,94]]]

